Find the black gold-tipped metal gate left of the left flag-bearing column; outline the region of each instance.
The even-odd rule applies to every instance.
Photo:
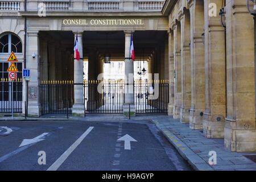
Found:
[[[72,114],[73,89],[73,81],[42,81],[40,85],[42,115]]]

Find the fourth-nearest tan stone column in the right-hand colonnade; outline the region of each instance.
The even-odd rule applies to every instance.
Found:
[[[181,24],[181,107],[180,122],[189,123],[191,108],[191,52],[190,52],[190,16],[183,10]]]

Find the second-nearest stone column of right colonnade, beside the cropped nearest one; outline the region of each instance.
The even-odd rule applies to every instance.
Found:
[[[224,138],[226,116],[225,29],[219,16],[208,16],[209,3],[221,9],[222,0],[205,0],[205,111],[204,136]]]

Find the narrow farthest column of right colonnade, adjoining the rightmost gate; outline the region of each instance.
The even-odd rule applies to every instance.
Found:
[[[168,31],[168,56],[169,56],[169,104],[168,115],[174,111],[174,32]]]

